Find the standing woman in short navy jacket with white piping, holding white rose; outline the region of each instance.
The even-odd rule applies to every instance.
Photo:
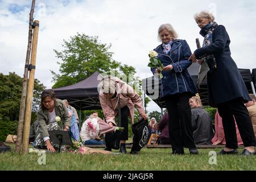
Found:
[[[162,71],[161,95],[168,110],[169,135],[172,154],[184,154],[184,147],[191,154],[198,154],[192,135],[191,109],[189,98],[197,93],[196,86],[187,68],[192,64],[190,48],[185,40],[176,39],[171,24],[162,24],[158,29],[162,44],[154,49],[164,68]],[[151,69],[158,73],[158,69]]]

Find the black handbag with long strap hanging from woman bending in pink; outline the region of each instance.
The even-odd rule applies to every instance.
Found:
[[[118,96],[118,127],[121,127],[121,107],[120,107],[120,99]],[[121,133],[122,131],[115,131],[105,134],[105,144],[107,148],[112,148],[115,150],[119,150]]]

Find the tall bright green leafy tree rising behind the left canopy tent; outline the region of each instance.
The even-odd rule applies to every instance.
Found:
[[[56,57],[62,62],[57,61],[60,65],[60,74],[51,71],[52,81],[55,82],[52,88],[75,84],[96,71],[108,75],[114,71],[118,77],[136,73],[133,67],[121,65],[113,60],[113,53],[109,52],[111,45],[100,43],[97,36],[91,37],[77,33],[71,36],[70,40],[64,40],[62,46],[63,51],[54,49]],[[135,78],[135,80],[138,79]]]

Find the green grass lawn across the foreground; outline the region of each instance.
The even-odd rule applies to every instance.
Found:
[[[143,148],[139,155],[80,155],[47,153],[46,165],[38,164],[37,154],[0,153],[0,170],[256,170],[256,156],[217,156],[217,164],[208,163],[209,151],[199,149],[199,155],[171,155],[171,148]],[[241,153],[240,149],[240,153]],[[130,151],[130,148],[127,148]]]

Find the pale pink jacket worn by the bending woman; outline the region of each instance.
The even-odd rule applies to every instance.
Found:
[[[125,107],[127,106],[130,110],[130,118],[131,124],[134,123],[134,106],[138,110],[139,114],[145,113],[142,105],[141,97],[138,93],[135,92],[130,85],[126,84],[119,78],[115,77],[115,82],[117,83],[117,97],[111,99],[106,94],[100,90],[100,102],[101,107],[104,113],[104,117],[106,122],[113,122],[115,123],[115,116],[118,113],[118,98],[120,99],[120,106]]]

